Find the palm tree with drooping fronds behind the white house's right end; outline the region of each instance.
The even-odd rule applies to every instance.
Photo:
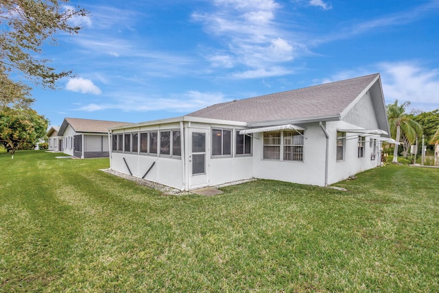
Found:
[[[404,134],[410,143],[414,143],[416,136],[423,133],[423,128],[412,119],[412,116],[405,113],[407,106],[410,106],[410,102],[407,101],[399,105],[397,99],[394,104],[387,105],[390,134],[398,142],[401,139],[401,134]],[[393,163],[398,163],[398,145],[395,145],[393,152]]]

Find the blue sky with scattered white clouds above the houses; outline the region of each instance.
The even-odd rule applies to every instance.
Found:
[[[72,1],[90,16],[44,57],[74,78],[34,87],[64,117],[141,122],[381,73],[386,104],[439,108],[439,1]]]

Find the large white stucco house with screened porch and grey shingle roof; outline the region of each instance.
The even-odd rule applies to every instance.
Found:
[[[181,190],[266,178],[326,186],[381,165],[379,73],[110,128],[110,169]]]

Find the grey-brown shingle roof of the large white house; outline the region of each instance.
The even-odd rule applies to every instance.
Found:
[[[340,115],[379,73],[208,106],[187,116],[231,121],[276,121]]]

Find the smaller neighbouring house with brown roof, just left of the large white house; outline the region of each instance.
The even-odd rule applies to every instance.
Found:
[[[65,118],[58,130],[59,150],[78,158],[109,156],[108,128],[126,122]]]

